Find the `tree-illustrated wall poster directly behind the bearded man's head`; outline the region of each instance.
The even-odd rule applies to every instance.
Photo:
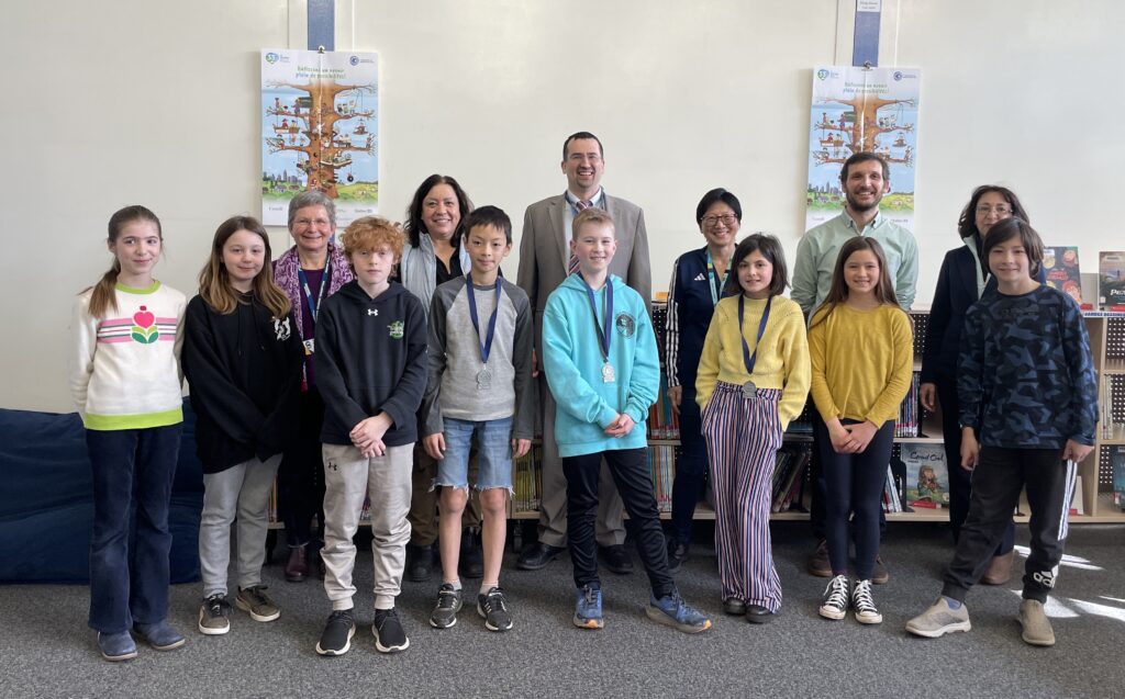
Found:
[[[883,194],[880,210],[914,230],[920,83],[918,69],[813,69],[806,230],[840,212],[840,166],[861,151],[890,163],[891,191]]]

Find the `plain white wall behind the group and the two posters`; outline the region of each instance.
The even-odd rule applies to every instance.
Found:
[[[1079,245],[1088,272],[1098,249],[1125,246],[1108,203],[1125,6],[883,4],[881,64],[924,71],[919,301],[980,183],[1012,187],[1048,243]],[[850,13],[848,0],[338,0],[336,49],[380,53],[386,215],[402,218],[417,183],[442,172],[519,227],[528,203],[565,187],[562,138],[588,129],[605,143],[606,189],[645,207],[663,289],[675,256],[702,244],[694,208],[712,187],[739,196],[744,232],[778,235],[792,260],[810,69],[850,62]],[[4,9],[0,407],[71,409],[69,308],[109,264],[114,210],[161,216],[158,273],[184,291],[215,226],[259,212],[258,52],[304,47],[303,15],[300,0]],[[286,245],[282,229],[273,243]]]

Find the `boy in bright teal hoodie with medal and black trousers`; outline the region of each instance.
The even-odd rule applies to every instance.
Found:
[[[594,520],[602,460],[633,523],[652,593],[649,618],[682,632],[711,627],[688,607],[668,573],[652,494],[645,418],[660,384],[656,335],[645,299],[609,274],[616,251],[613,219],[588,208],[574,219],[570,253],[578,271],[543,310],[543,371],[555,396],[555,439],[567,479],[570,559],[577,585],[574,623],[602,628]]]

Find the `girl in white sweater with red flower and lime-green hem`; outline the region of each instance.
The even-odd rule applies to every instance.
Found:
[[[70,384],[93,472],[89,624],[102,656],[122,661],[137,654],[130,629],[158,651],[183,645],[164,617],[186,298],[153,279],[163,245],[155,214],[117,211],[107,245],[114,265],[74,302]]]

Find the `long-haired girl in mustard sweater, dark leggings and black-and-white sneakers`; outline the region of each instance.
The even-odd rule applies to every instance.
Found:
[[[914,343],[878,240],[855,237],[840,248],[831,289],[809,324],[809,354],[832,566],[820,616],[843,619],[850,602],[857,621],[879,624],[883,617],[871,597],[879,509],[894,418],[910,388]],[[850,585],[847,526],[853,512],[856,582]]]

